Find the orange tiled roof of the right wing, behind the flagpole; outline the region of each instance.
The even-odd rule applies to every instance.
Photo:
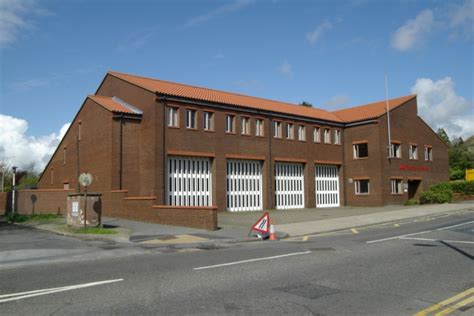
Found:
[[[407,101],[416,98],[416,94],[407,95],[404,97],[399,97],[396,99],[388,100],[389,109],[399,107],[400,105],[406,103]],[[337,115],[342,121],[346,123],[357,122],[363,120],[369,120],[378,118],[386,113],[386,103],[385,101],[374,102],[370,104],[355,106],[347,109],[342,109],[332,112]]]

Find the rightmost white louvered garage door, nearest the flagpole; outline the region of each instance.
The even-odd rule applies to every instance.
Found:
[[[316,207],[339,206],[338,166],[316,165]]]

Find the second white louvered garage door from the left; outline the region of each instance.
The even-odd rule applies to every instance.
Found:
[[[262,209],[262,163],[256,160],[227,160],[227,210]]]

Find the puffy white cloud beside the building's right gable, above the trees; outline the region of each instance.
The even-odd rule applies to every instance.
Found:
[[[433,129],[442,127],[450,137],[474,135],[474,102],[456,94],[450,77],[417,79],[411,92],[418,95],[420,116]]]

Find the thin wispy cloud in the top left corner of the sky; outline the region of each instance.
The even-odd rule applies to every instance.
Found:
[[[0,0],[0,47],[17,41],[22,31],[32,29],[31,15],[47,16],[51,13],[36,5],[36,0]]]

